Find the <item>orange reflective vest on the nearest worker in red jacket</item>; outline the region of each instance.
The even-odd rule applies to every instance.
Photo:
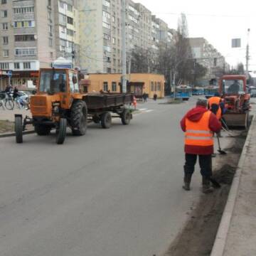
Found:
[[[210,110],[198,122],[186,118],[185,144],[189,146],[213,146],[213,132],[210,131]]]

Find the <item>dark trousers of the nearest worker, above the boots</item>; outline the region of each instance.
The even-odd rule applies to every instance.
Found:
[[[213,175],[211,155],[186,154],[186,163],[184,165],[185,174],[193,174],[195,171],[197,156],[199,156],[201,175],[206,178],[210,178]]]

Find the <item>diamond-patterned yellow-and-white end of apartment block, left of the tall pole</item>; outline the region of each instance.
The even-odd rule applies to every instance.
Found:
[[[82,70],[121,72],[121,1],[80,0],[79,3]]]

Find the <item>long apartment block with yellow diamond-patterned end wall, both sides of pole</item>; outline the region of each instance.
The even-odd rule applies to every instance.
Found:
[[[80,0],[80,66],[87,73],[122,72],[120,0]],[[127,0],[127,58],[134,46],[158,50],[171,40],[167,24],[142,4]]]

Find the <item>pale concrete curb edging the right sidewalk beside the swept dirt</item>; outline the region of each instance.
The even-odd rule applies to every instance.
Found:
[[[253,116],[253,118],[252,118],[250,130],[247,134],[247,139],[245,141],[245,145],[242,148],[242,154],[241,154],[240,160],[238,162],[238,168],[237,168],[237,170],[235,172],[235,176],[233,178],[232,186],[230,188],[230,192],[228,195],[228,201],[225,205],[223,216],[220,220],[220,225],[218,227],[218,233],[215,237],[213,249],[210,253],[210,256],[223,256],[223,253],[225,250],[225,245],[226,245],[227,238],[228,238],[228,231],[230,228],[230,223],[231,223],[233,211],[235,208],[235,201],[238,196],[238,188],[240,185],[240,178],[242,175],[242,166],[245,162],[245,156],[247,154],[250,137],[252,136],[252,127],[254,126],[253,125],[254,122],[256,122],[256,116]]]

